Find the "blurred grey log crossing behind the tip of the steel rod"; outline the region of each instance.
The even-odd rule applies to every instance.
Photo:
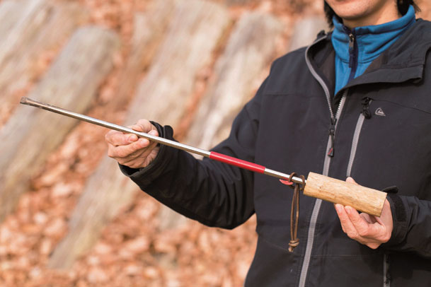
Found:
[[[119,39],[110,30],[80,28],[29,97],[84,112],[113,66]],[[10,213],[28,180],[76,125],[73,119],[18,107],[0,130],[0,221]]]

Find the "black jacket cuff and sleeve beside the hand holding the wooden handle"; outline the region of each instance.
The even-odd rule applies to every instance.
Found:
[[[391,239],[386,250],[412,252],[431,259],[431,201],[388,194],[393,217]]]

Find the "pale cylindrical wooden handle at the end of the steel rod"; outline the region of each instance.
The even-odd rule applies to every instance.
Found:
[[[352,206],[357,211],[373,216],[381,215],[386,199],[385,192],[343,182],[343,180],[335,180],[314,172],[310,172],[309,177],[306,179],[304,194],[308,197],[316,197],[334,204]]]

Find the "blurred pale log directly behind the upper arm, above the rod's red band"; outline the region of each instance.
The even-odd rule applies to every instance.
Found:
[[[275,57],[282,23],[263,13],[246,13],[217,61],[212,82],[202,99],[186,142],[209,149],[229,134],[231,122],[263,81],[262,71]]]

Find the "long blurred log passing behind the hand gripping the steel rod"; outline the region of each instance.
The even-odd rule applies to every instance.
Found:
[[[163,0],[164,1],[164,0]],[[139,86],[126,124],[142,117],[178,123],[193,90],[195,76],[212,58],[212,52],[229,23],[229,14],[207,1],[178,1],[168,33],[149,74]],[[125,206],[135,192],[115,160],[105,158],[88,180],[69,224],[69,233],[50,258],[51,268],[68,268],[98,239],[101,229]],[[144,223],[143,223],[144,224]]]

